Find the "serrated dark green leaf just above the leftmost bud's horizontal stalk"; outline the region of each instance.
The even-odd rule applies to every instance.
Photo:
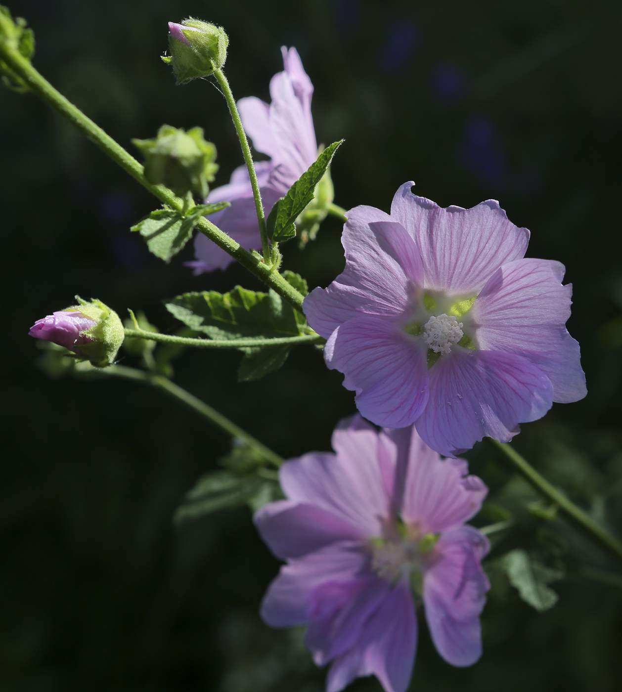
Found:
[[[259,293],[236,286],[229,293],[184,293],[166,307],[187,327],[214,339],[300,335],[295,310],[272,289]]]

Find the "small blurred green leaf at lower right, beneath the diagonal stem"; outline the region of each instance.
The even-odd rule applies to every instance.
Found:
[[[500,559],[500,566],[522,600],[532,608],[542,612],[553,608],[557,603],[558,595],[547,584],[562,579],[564,574],[560,570],[543,565],[520,548],[504,555]]]

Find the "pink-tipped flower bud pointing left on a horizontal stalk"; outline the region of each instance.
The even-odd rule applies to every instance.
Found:
[[[125,336],[116,312],[100,300],[79,303],[37,320],[28,334],[73,351],[95,367],[111,365]]]

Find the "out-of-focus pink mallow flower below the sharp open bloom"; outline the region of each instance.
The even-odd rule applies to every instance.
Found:
[[[489,588],[488,540],[465,526],[487,489],[464,459],[441,459],[411,426],[376,432],[356,415],[333,432],[335,454],[286,462],[286,500],[255,522],[286,561],[262,617],[308,625],[315,664],[332,662],[327,692],[376,675],[386,692],[408,688],[417,648],[412,591],[423,594],[439,654],[454,666],[482,655],[479,614]]]

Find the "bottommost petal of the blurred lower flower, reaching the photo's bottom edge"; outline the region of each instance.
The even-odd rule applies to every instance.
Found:
[[[327,692],[340,692],[355,677],[376,675],[385,692],[408,689],[417,620],[408,584],[398,583],[370,617],[356,645],[338,657],[327,677]]]

